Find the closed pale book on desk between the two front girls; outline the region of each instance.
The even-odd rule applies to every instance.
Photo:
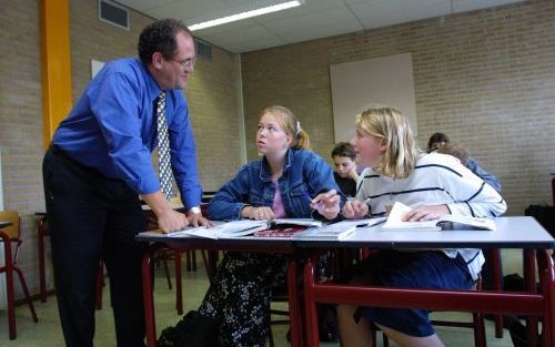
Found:
[[[356,227],[373,226],[381,224],[385,217],[370,220],[347,220],[337,223],[324,225],[322,227],[312,227],[300,234],[293,235],[295,239],[321,239],[321,241],[344,241],[356,231]]]

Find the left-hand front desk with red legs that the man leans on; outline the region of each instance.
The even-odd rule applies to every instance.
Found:
[[[143,296],[144,296],[144,322],[147,326],[147,346],[154,347],[157,343],[157,327],[154,316],[154,300],[152,295],[152,272],[151,263],[153,254],[161,247],[174,249],[204,248],[215,251],[235,251],[235,252],[261,252],[290,254],[287,265],[287,295],[290,307],[291,345],[293,347],[304,346],[302,333],[302,314],[297,294],[297,274],[299,258],[297,249],[293,247],[291,239],[264,238],[264,237],[238,237],[226,239],[210,239],[198,237],[167,237],[157,233],[138,235],[138,242],[151,243],[143,256],[142,276],[143,276]]]

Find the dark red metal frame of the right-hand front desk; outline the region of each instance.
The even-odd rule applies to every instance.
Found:
[[[542,292],[535,290],[534,249],[524,249],[525,278],[528,292],[473,292],[406,289],[377,286],[319,284],[314,268],[317,255],[304,265],[305,325],[309,347],[320,346],[316,303],[353,304],[379,307],[421,307],[432,310],[458,310],[476,313],[514,313],[529,316],[528,346],[537,346],[537,319],[544,317],[544,346],[555,346],[555,271],[551,255],[537,252],[537,265]]]

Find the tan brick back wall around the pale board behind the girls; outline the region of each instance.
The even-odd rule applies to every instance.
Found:
[[[255,132],[259,110],[283,104],[327,159],[329,65],[405,52],[413,57],[420,144],[425,147],[436,131],[462,143],[501,178],[508,215],[523,214],[532,203],[552,203],[555,2],[549,0],[242,54],[246,139]],[[246,143],[248,156],[255,157],[254,143]]]

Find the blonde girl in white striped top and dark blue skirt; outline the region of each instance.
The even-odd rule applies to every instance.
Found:
[[[356,200],[343,207],[346,218],[383,214],[397,201],[413,207],[405,221],[443,214],[498,216],[506,210],[500,194],[458,160],[421,152],[406,118],[394,108],[376,106],[360,114],[352,143],[369,167],[361,175]],[[351,283],[468,289],[483,263],[480,249],[382,251],[359,264]],[[342,346],[371,346],[371,323],[400,346],[443,346],[423,309],[340,305],[337,314]]]

